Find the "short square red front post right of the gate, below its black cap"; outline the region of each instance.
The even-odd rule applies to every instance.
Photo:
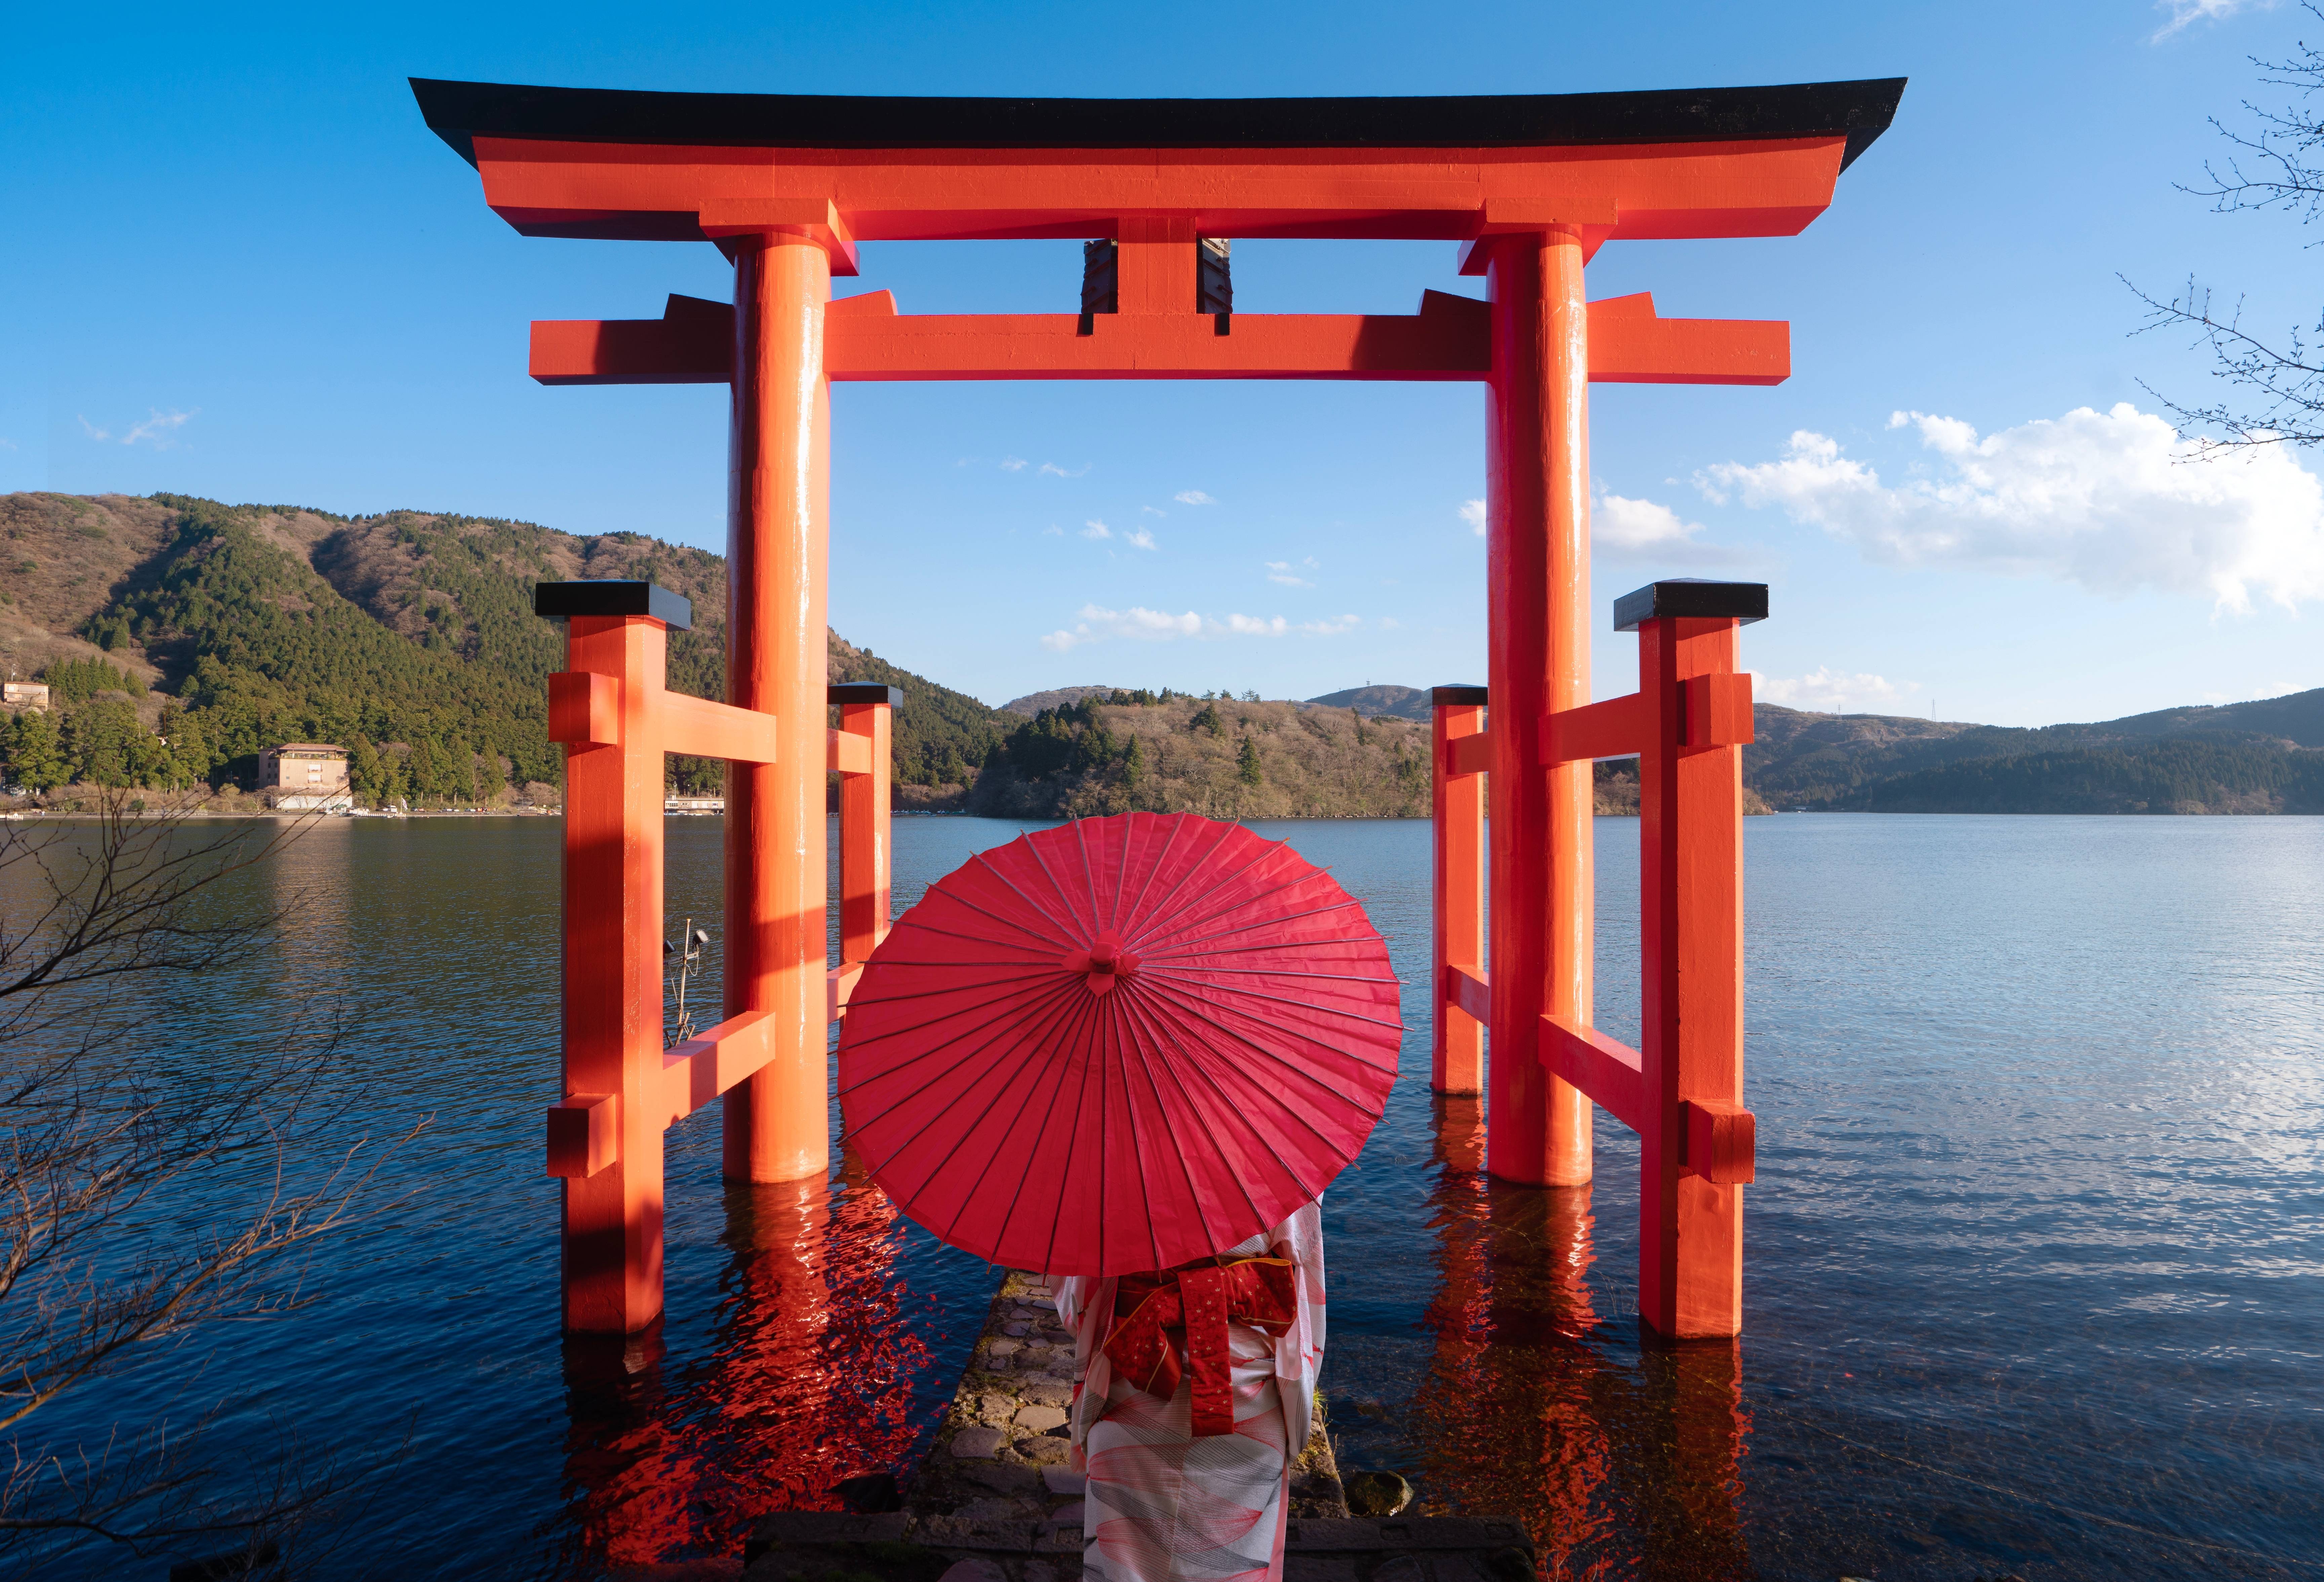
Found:
[[[1762,590],[1764,597],[1764,590]],[[1638,1313],[1671,1338],[1743,1331],[1743,1182],[1690,1159],[1690,1110],[1743,1103],[1743,753],[1750,697],[1715,690],[1736,669],[1736,620],[1638,625],[1638,883],[1645,969],[1645,1131]],[[1710,683],[1699,678],[1713,678]],[[1694,683],[1694,685],[1690,685]],[[1741,722],[1720,706],[1741,697]],[[1724,741],[1720,739],[1724,736]],[[1703,1138],[1710,1129],[1701,1129]]]

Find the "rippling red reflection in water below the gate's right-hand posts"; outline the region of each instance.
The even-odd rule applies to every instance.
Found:
[[[1518,1515],[1552,1582],[1748,1577],[1741,1345],[1599,1317],[1592,1187],[1485,1175],[1480,1110],[1436,1099],[1436,1347],[1408,1419],[1427,1510]]]

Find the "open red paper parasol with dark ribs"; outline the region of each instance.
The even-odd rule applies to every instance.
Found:
[[[969,857],[848,997],[848,1145],[906,1215],[1011,1268],[1225,1252],[1306,1203],[1397,1080],[1364,908],[1287,843],[1188,813]]]

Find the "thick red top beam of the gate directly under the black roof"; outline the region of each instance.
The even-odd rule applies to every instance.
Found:
[[[476,137],[486,202],[525,235],[848,242],[1789,237],[1831,204],[1845,137],[1583,149],[744,149]]]

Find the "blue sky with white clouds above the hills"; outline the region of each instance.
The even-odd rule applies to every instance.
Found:
[[[14,7],[0,488],[723,544],[723,390],[523,372],[530,318],[727,295],[718,253],[516,237],[407,74],[1046,95],[1906,74],[1894,130],[1801,237],[1592,265],[1597,297],[1794,337],[1773,390],[1597,388],[1597,692],[1636,674],[1613,597],[1687,574],[1773,585],[1745,634],[1773,702],[2036,725],[2312,688],[2324,458],[2178,462],[2140,381],[2196,402],[2208,374],[2129,335],[2117,281],[2194,274],[2254,323],[2315,323],[2324,232],[2173,186],[2217,156],[2208,116],[2275,93],[2247,58],[2303,30],[2324,23],[2236,0]],[[1452,251],[1246,242],[1236,307],[1476,295]],[[841,290],[904,311],[1067,311],[1078,288],[1069,242],[862,253]],[[832,407],[832,623],[909,669],[988,702],[1483,676],[1476,386],[839,386]]]

